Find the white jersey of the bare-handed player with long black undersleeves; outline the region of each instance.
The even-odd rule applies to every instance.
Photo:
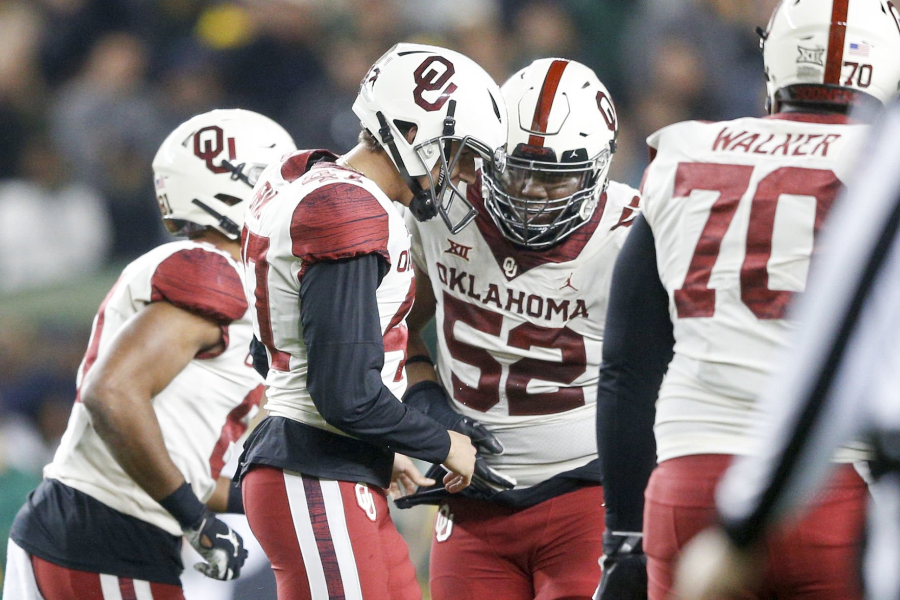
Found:
[[[406,390],[406,315],[415,295],[410,233],[401,213],[353,169],[300,151],[269,166],[247,210],[241,252],[253,327],[269,354],[266,410],[333,433],[306,387],[307,356],[300,314],[300,280],[309,264],[378,254],[390,270],[376,290],[384,341],[384,385]],[[333,156],[333,155],[332,155]],[[337,299],[336,299],[337,300]]]

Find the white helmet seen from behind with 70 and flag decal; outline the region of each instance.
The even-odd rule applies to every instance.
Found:
[[[900,13],[888,0],[782,0],[761,37],[770,112],[887,103],[900,85]]]

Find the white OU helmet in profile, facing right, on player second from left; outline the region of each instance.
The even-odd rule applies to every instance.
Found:
[[[410,186],[410,210],[417,219],[439,213],[456,233],[474,218],[473,206],[448,175],[464,148],[483,162],[502,162],[507,129],[500,88],[482,67],[451,49],[397,44],[369,69],[353,111]],[[410,143],[406,134],[412,126],[416,135]],[[451,152],[454,141],[459,143]],[[435,178],[431,171],[438,161]],[[415,179],[422,176],[428,177],[428,189]],[[454,220],[449,211],[457,199],[466,214]]]

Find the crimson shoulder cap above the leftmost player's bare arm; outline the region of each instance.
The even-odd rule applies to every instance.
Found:
[[[244,286],[234,266],[224,256],[202,248],[168,256],[153,273],[150,288],[151,302],[165,300],[220,325],[247,312]]]

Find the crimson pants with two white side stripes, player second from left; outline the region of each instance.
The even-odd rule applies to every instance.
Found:
[[[279,600],[421,599],[383,489],[265,466],[241,485]]]

